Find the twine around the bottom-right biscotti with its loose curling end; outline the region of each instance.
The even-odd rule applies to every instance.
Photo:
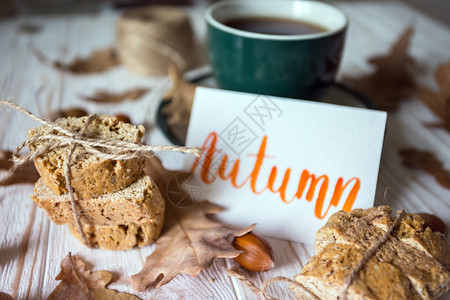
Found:
[[[350,288],[353,281],[358,276],[359,271],[364,267],[364,265],[367,263],[367,261],[375,255],[375,253],[380,249],[380,247],[388,240],[388,238],[391,236],[391,234],[394,232],[395,228],[397,228],[402,220],[402,218],[405,216],[405,212],[403,210],[397,211],[397,215],[395,217],[394,222],[392,225],[388,228],[388,230],[367,250],[367,252],[364,254],[364,257],[356,264],[356,266],[350,271],[350,273],[347,275],[344,281],[344,285],[342,287],[342,291],[340,293],[340,296],[338,296],[337,299],[345,300],[347,298],[348,289]],[[289,283],[291,285],[294,285],[295,287],[298,287],[302,290],[304,294],[307,294],[310,298],[314,298],[317,300],[320,300],[319,297],[317,297],[311,290],[309,290],[307,287],[305,287],[303,284],[301,284],[298,281],[292,280],[290,278],[284,277],[284,276],[278,276],[274,278],[270,278],[266,281],[264,281],[261,286],[258,288],[255,283],[253,283],[249,275],[245,273],[241,268],[239,267],[233,267],[231,269],[225,269],[225,273],[230,276],[234,277],[238,280],[240,280],[242,283],[247,285],[250,290],[255,293],[256,295],[260,295],[264,300],[278,300],[277,298],[272,297],[269,295],[266,291],[267,287],[273,283],[277,282],[285,282]]]

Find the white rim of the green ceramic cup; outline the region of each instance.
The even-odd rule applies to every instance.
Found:
[[[265,33],[255,33],[255,32],[250,32],[250,31],[245,31],[245,30],[240,30],[240,29],[235,29],[232,27],[229,27],[227,25],[224,25],[222,23],[220,23],[219,21],[217,21],[214,17],[213,17],[213,12],[225,5],[230,5],[231,4],[242,4],[243,2],[254,2],[254,3],[261,3],[261,2],[265,2],[265,3],[274,3],[274,4],[279,4],[280,2],[285,2],[285,3],[308,3],[310,5],[318,5],[318,6],[322,6],[322,7],[328,7],[328,8],[332,8],[334,10],[336,10],[338,13],[342,14],[343,18],[344,18],[344,24],[336,29],[332,29],[332,30],[327,30],[325,32],[319,32],[319,33],[312,33],[312,34],[295,34],[295,35],[276,35],[276,34],[265,34]],[[348,26],[348,17],[347,15],[340,9],[338,9],[337,7],[333,6],[333,5],[329,5],[327,3],[323,3],[323,2],[318,2],[318,1],[311,1],[311,0],[247,0],[247,1],[242,1],[242,0],[226,0],[226,1],[220,1],[217,2],[213,5],[211,5],[210,7],[208,7],[208,9],[206,10],[205,13],[205,18],[206,18],[206,22],[208,24],[210,24],[211,26],[216,27],[217,29],[220,29],[222,31],[225,31],[227,33],[233,34],[233,35],[237,35],[237,36],[242,36],[242,37],[247,37],[247,38],[254,38],[254,39],[263,39],[263,40],[273,40],[273,41],[299,41],[299,40],[311,40],[311,39],[319,39],[319,38],[323,38],[323,37],[327,37],[327,36],[331,36],[334,35],[342,30],[344,30],[345,28],[347,28]]]

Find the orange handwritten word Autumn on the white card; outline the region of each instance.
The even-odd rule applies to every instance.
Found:
[[[198,158],[192,165],[191,172],[194,172],[194,170],[199,166],[200,161],[202,161],[200,178],[204,183],[211,184],[216,180],[216,178],[219,178],[223,181],[229,180],[233,187],[237,189],[240,189],[245,185],[249,185],[253,193],[259,195],[266,191],[269,191],[274,194],[278,194],[280,199],[287,204],[293,202],[296,199],[302,199],[303,196],[307,201],[313,201],[316,188],[318,188],[319,192],[315,200],[314,214],[319,219],[323,219],[327,215],[331,206],[337,207],[341,202],[344,191],[351,188],[350,192],[347,195],[347,198],[345,199],[343,210],[350,211],[352,209],[353,203],[355,202],[356,196],[358,195],[359,189],[361,187],[361,181],[357,177],[353,177],[345,183],[344,179],[342,177],[339,177],[337,182],[334,184],[333,194],[325,212],[323,212],[323,208],[325,204],[325,198],[328,193],[328,188],[330,186],[330,180],[327,175],[321,175],[317,177],[315,174],[312,174],[310,171],[304,169],[301,172],[297,190],[292,196],[288,196],[286,191],[291,180],[291,168],[287,168],[284,171],[284,174],[281,174],[283,176],[283,180],[280,186],[274,186],[277,176],[280,176],[279,173],[281,173],[278,171],[277,166],[272,167],[268,178],[262,178],[262,176],[260,176],[261,168],[264,160],[268,157],[266,155],[267,139],[267,136],[263,137],[258,153],[254,155],[256,159],[253,170],[248,175],[248,177],[246,177],[241,182],[238,182],[241,159],[236,159],[231,167],[231,170],[227,173],[226,166],[228,164],[228,156],[223,155],[220,160],[219,168],[215,172],[211,172],[213,157],[216,154],[216,132],[211,132],[206,137],[202,146],[205,153],[204,159],[201,160],[200,158]],[[242,178],[242,176],[240,177]],[[258,181],[265,183],[265,186],[259,190],[257,189]],[[306,191],[308,183],[310,184],[309,188]]]

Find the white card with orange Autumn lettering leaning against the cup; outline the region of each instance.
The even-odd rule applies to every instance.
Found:
[[[226,223],[313,243],[333,213],[373,206],[385,124],[380,111],[197,88],[194,200],[225,207]]]

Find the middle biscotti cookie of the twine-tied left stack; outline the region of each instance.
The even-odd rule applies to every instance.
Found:
[[[42,179],[35,185],[33,201],[55,224],[75,224],[69,196],[56,195]],[[164,215],[165,202],[147,175],[111,194],[77,201],[81,221],[96,225],[148,223]]]

